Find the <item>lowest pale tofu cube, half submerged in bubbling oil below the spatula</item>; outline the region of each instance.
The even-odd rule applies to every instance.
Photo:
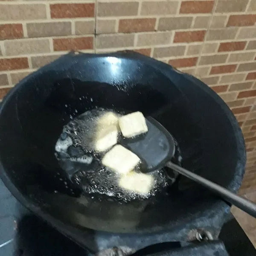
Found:
[[[119,186],[123,189],[139,194],[148,194],[154,185],[154,178],[144,173],[130,172],[119,180]]]

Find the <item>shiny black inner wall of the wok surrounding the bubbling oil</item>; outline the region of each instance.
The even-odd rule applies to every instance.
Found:
[[[198,218],[220,199],[177,180],[169,193],[149,201],[94,201],[67,179],[54,155],[70,116],[102,107],[153,116],[179,143],[183,166],[232,188],[241,161],[234,125],[215,93],[180,77],[172,82],[144,61],[97,57],[39,70],[23,80],[0,113],[0,157],[20,193],[43,212],[75,228],[149,232]],[[218,99],[218,100],[216,100]],[[235,125],[237,125],[235,123]],[[242,168],[242,166],[241,166]],[[239,182],[239,181],[238,181]],[[203,191],[203,192],[202,192]]]

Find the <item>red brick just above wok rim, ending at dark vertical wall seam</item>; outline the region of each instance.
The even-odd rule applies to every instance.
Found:
[[[93,49],[93,37],[55,38],[53,49],[55,51]]]

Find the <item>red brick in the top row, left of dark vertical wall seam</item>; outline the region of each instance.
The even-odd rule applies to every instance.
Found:
[[[94,17],[94,3],[56,3],[50,11],[53,19]]]

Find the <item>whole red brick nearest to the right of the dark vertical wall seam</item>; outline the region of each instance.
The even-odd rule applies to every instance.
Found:
[[[143,32],[154,31],[156,19],[121,19],[119,20],[118,32]]]

